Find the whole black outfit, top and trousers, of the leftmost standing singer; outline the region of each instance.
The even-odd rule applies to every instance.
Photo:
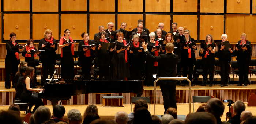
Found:
[[[14,42],[15,44],[18,44],[18,42]],[[15,57],[15,53],[19,53],[18,45],[13,45],[12,41],[6,42],[6,57],[5,57],[5,81],[4,85],[5,88],[11,87],[11,79],[12,76],[12,87],[15,88],[15,82],[14,77],[16,72],[18,71],[18,65],[20,63],[20,59],[17,59]]]

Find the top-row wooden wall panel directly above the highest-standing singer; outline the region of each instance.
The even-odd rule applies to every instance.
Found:
[[[143,0],[118,0],[118,12],[143,12]]]

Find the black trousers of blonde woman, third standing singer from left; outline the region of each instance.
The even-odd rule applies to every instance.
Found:
[[[54,73],[55,60],[54,61],[42,61],[42,75],[43,79],[41,84],[44,85],[48,75],[52,77]]]

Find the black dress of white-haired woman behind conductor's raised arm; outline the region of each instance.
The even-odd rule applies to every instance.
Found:
[[[148,46],[155,46],[156,43],[151,43],[150,41],[147,42]],[[151,52],[152,47],[148,47],[148,51],[150,52],[151,55],[155,55],[155,51]],[[145,85],[148,86],[153,86],[154,85],[154,77],[152,76],[153,74],[157,73],[157,66],[155,66],[155,61],[150,58],[150,57],[146,57],[146,67],[145,67],[145,71],[146,71],[146,78],[145,78]]]

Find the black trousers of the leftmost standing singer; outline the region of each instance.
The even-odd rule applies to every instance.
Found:
[[[5,59],[5,81],[4,85],[5,88],[11,87],[11,76],[12,76],[12,86],[15,86],[14,77],[15,74],[18,71],[18,62],[17,61],[11,61],[9,59]]]

